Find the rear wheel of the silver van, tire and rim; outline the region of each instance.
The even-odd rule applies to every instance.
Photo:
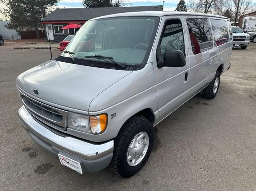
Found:
[[[220,86],[220,72],[216,71],[214,79],[211,83],[203,89],[203,95],[207,99],[213,99],[217,93]]]

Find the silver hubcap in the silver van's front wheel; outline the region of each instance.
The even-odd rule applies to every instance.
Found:
[[[145,157],[148,151],[149,137],[146,132],[138,133],[128,147],[126,159],[128,165],[136,166]]]

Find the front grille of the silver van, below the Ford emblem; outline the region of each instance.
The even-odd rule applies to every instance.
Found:
[[[67,111],[34,100],[21,92],[20,96],[24,106],[33,117],[52,128],[66,130]]]

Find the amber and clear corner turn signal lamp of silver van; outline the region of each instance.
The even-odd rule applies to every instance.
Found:
[[[108,122],[106,114],[90,116],[90,127],[92,134],[100,134],[105,131]]]

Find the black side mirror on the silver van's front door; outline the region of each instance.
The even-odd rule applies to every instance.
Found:
[[[183,67],[186,65],[184,53],[180,50],[166,50],[164,58],[158,59],[158,67]]]

